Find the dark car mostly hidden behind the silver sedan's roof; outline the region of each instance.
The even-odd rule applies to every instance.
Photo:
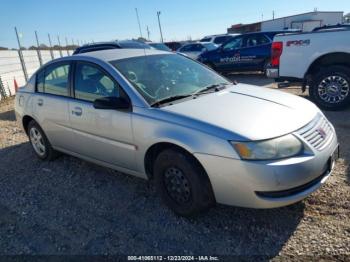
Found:
[[[121,40],[121,41],[100,42],[100,43],[83,45],[75,49],[73,55],[100,51],[100,50],[107,50],[107,49],[120,49],[120,48],[152,49],[151,46],[139,41]]]

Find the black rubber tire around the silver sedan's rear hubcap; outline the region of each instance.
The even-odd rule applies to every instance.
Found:
[[[42,154],[40,154],[37,150],[36,150],[36,146],[34,145],[34,140],[33,137],[31,135],[31,132],[38,132],[41,136],[41,144],[45,147],[45,150]],[[41,127],[37,124],[37,122],[35,122],[34,120],[30,121],[28,124],[28,128],[27,128],[27,134],[29,137],[29,141],[30,144],[32,145],[32,149],[34,151],[34,153],[41,159],[41,160],[48,160],[48,161],[52,161],[54,159],[56,159],[59,156],[59,153],[54,150],[49,142],[49,140],[47,139],[44,131],[41,129]]]

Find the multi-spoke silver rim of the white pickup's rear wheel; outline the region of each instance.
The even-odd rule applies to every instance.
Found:
[[[341,76],[328,76],[318,85],[318,94],[327,103],[342,102],[349,92],[349,83]]]

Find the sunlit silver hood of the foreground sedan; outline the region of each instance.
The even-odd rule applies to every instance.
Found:
[[[308,124],[319,112],[304,98],[245,84],[165,106],[162,110],[205,122],[246,140],[291,133]]]

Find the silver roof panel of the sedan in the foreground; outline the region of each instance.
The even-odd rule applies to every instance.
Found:
[[[106,62],[121,60],[126,58],[148,56],[148,55],[161,55],[161,54],[173,54],[171,52],[161,51],[157,49],[109,49],[101,50],[83,54],[77,54],[75,56],[93,57]]]

